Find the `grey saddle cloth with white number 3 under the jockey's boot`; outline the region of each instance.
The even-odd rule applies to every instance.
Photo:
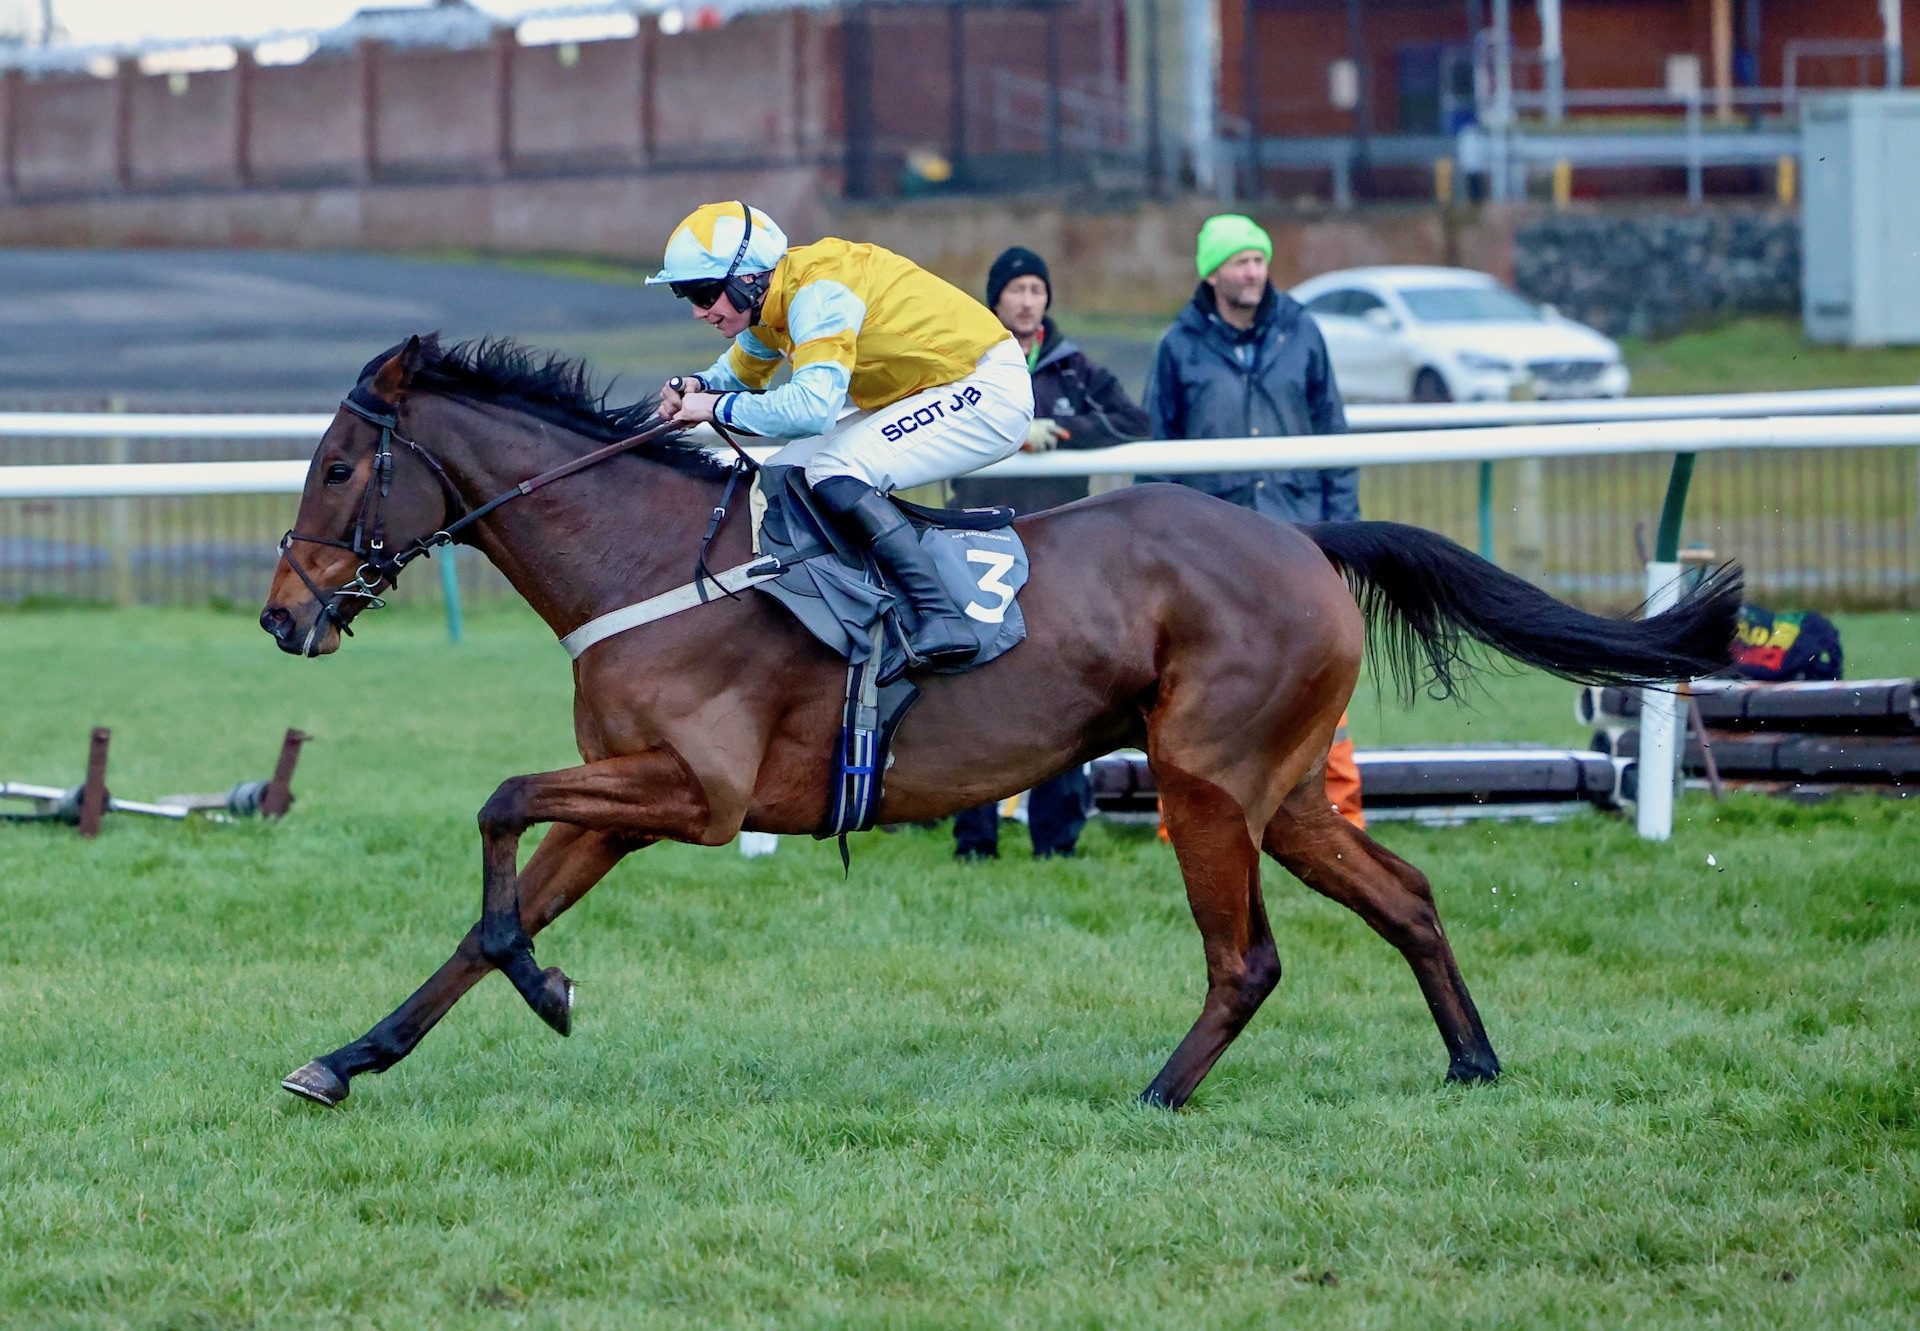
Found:
[[[906,653],[900,649],[899,617],[910,615],[879,580],[872,563],[856,553],[814,503],[799,467],[764,467],[756,478],[766,513],[756,532],[756,551],[791,570],[762,582],[828,647],[860,665],[874,655],[874,624],[881,624],[881,676]],[[1010,509],[962,509],[947,513],[897,501],[920,532],[920,545],[933,559],[954,605],[979,638],[979,655],[948,674],[987,665],[1027,636],[1016,595],[1027,584],[1027,547],[1012,528]],[[933,526],[931,522],[964,522]]]

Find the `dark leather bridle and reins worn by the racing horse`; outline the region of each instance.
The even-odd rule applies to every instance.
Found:
[[[319,601],[321,605],[321,613],[313,617],[313,626],[307,630],[307,641],[301,645],[301,651],[313,649],[315,640],[319,638],[319,634],[324,632],[326,624],[332,624],[344,636],[351,638],[353,628],[348,624],[349,617],[340,611],[342,601],[363,601],[361,609],[372,609],[372,611],[380,609],[382,605],[386,605],[386,599],[380,595],[382,584],[388,588],[399,586],[399,574],[407,565],[411,565],[415,559],[420,557],[432,557],[432,553],[442,545],[453,544],[453,540],[461,532],[465,532],[468,526],[484,519],[499,505],[507,503],[509,499],[518,499],[520,496],[534,494],[541,486],[561,480],[563,476],[572,476],[574,472],[586,471],[588,467],[593,467],[595,463],[614,457],[616,453],[626,453],[628,449],[639,448],[641,444],[651,444],[662,434],[670,434],[676,428],[680,428],[672,421],[660,421],[659,424],[653,424],[641,430],[639,434],[624,438],[618,444],[607,444],[605,448],[599,448],[588,453],[586,457],[576,457],[570,463],[561,463],[559,467],[543,471],[538,476],[528,476],[511,490],[493,496],[478,509],[468,509],[461,513],[457,519],[430,532],[428,536],[417,536],[405,545],[388,551],[386,503],[388,497],[394,494],[396,440],[413,449],[415,457],[426,463],[428,471],[434,472],[434,478],[440,480],[440,488],[447,497],[449,513],[459,513],[465,507],[465,499],[461,499],[461,492],[453,484],[453,478],[447,476],[447,469],[442,467],[440,461],[424,448],[420,448],[415,440],[409,440],[405,434],[399,432],[397,405],[388,403],[386,399],[374,396],[365,382],[355,384],[353,392],[349,392],[346,398],[340,399],[340,405],[357,415],[361,421],[380,426],[380,442],[374,446],[372,471],[367,476],[367,488],[361,492],[359,511],[353,517],[353,540],[338,540],[332,536],[311,536],[307,532],[296,532],[296,530],[288,530],[286,536],[280,538],[280,557],[286,559],[286,567],[294,570],[294,574],[305,584],[313,599]],[[732,434],[728,434],[726,428],[720,426],[720,423],[714,423],[714,428],[728,444],[733,446],[735,461],[732,472],[728,474],[726,490],[720,494],[720,503],[714,505],[712,517],[707,522],[707,534],[701,538],[701,549],[695,561],[697,578],[707,576],[707,547],[712,545],[712,540],[720,530],[720,522],[728,515],[728,505],[733,501],[733,492],[737,490],[741,478],[758,471],[758,463],[755,463],[753,457],[747,455],[747,451],[739,446],[739,442]],[[361,561],[359,569],[353,570],[353,578],[349,582],[340,584],[332,592],[324,592],[313,580],[313,576],[300,567],[298,561],[288,557],[288,551],[296,544],[332,545],[334,549],[344,549]],[[733,592],[728,592],[728,595],[733,595]]]

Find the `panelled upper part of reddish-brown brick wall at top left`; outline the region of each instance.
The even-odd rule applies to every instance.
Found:
[[[766,165],[831,150],[831,19],[520,48],[363,46],[300,65],[0,79],[0,207],[86,192],[488,181],[516,169]],[[563,58],[564,52],[564,58]]]

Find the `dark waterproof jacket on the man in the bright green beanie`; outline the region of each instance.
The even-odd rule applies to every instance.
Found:
[[[1344,434],[1346,407],[1313,317],[1292,296],[1267,288],[1252,328],[1215,313],[1206,282],[1160,338],[1146,380],[1146,421],[1156,440],[1238,440],[1269,434]],[[1175,480],[1286,522],[1359,517],[1359,471],[1219,471]]]

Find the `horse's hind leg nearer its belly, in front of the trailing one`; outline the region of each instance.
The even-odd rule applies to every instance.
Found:
[[[1187,905],[1206,945],[1206,1003],[1167,1066],[1140,1095],[1179,1108],[1281,981],[1281,956],[1260,899],[1260,851],[1240,803],[1219,786],[1156,761],[1167,835]]]

